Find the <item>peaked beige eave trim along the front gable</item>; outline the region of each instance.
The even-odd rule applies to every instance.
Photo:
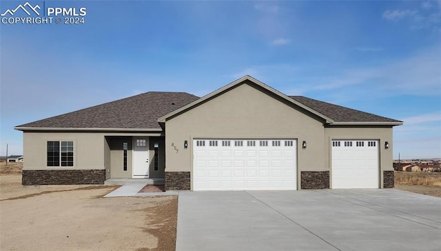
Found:
[[[223,88],[219,88],[218,90],[215,90],[214,92],[210,92],[209,94],[205,95],[204,97],[201,97],[201,99],[196,99],[192,103],[187,104],[187,106],[183,106],[177,110],[174,110],[173,112],[170,112],[168,114],[165,114],[163,117],[158,118],[158,123],[164,123],[168,118],[173,117],[176,114],[179,114],[189,108],[192,108],[192,106],[196,106],[198,103],[201,103],[207,99],[211,99],[212,97],[216,96],[217,94],[220,94],[222,92],[225,92],[226,90],[233,88],[234,86],[238,85],[239,83],[243,83],[243,81],[252,81],[256,85],[260,86],[261,88],[264,88],[265,90],[268,90],[269,92],[273,92],[278,97],[285,99],[286,101],[290,103],[294,103],[296,106],[299,106],[302,109],[307,110],[308,112],[311,112],[312,114],[315,114],[316,116],[324,119],[325,123],[333,123],[334,119],[331,119],[330,117],[325,116],[325,114],[321,114],[320,112],[317,112],[314,109],[309,108],[309,106],[305,106],[304,104],[291,99],[287,95],[283,94],[282,92],[279,92],[278,90],[271,88],[267,86],[265,83],[258,81],[257,79],[254,79],[254,77],[251,77],[249,75],[246,75],[244,77],[241,77],[240,79],[237,79],[236,81],[227,84],[227,86],[224,86]]]

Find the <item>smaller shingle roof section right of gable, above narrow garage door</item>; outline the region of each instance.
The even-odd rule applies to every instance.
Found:
[[[289,96],[309,108],[320,112],[321,114],[334,119],[334,122],[393,122],[400,123],[401,121],[381,117],[376,114],[353,110],[343,106],[337,106],[332,103],[318,101],[316,99],[309,99],[302,96]]]

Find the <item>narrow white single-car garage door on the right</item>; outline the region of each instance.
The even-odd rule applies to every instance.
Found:
[[[332,141],[332,188],[379,188],[378,141]]]

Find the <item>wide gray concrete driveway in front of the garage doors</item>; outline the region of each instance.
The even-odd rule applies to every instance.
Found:
[[[441,250],[441,198],[393,189],[185,192],[176,250]]]

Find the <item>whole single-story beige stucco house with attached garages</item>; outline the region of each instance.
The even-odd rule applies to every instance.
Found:
[[[204,97],[146,92],[24,125],[23,185],[162,178],[166,190],[392,188],[402,121],[242,77]]]

